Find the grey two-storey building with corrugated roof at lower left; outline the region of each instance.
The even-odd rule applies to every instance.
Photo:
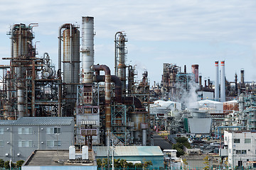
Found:
[[[0,120],[0,159],[26,160],[35,149],[74,145],[74,118],[23,117]]]

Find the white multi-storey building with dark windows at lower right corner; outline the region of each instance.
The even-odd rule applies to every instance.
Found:
[[[256,166],[256,131],[224,131],[224,149],[220,156],[228,156],[230,166]]]

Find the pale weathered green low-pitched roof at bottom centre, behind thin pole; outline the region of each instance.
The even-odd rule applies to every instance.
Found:
[[[93,147],[97,157],[107,157],[107,147]],[[112,147],[110,147],[112,150]],[[112,152],[111,152],[112,153]],[[163,156],[159,146],[117,146],[114,156]]]

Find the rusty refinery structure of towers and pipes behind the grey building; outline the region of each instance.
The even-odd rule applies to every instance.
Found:
[[[75,145],[149,145],[149,78],[127,65],[127,38],[114,35],[114,74],[94,63],[94,18],[82,28],[64,23],[58,29],[58,70],[50,54],[37,57],[33,43],[38,24],[14,24],[9,31],[11,55],[1,65],[0,118],[74,117]],[[80,46],[81,37],[81,46]],[[105,74],[102,74],[104,72]]]

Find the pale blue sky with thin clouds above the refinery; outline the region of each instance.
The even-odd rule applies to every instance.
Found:
[[[225,60],[225,76],[256,80],[256,1],[254,0],[1,0],[0,58],[10,56],[6,32],[15,23],[38,23],[37,57],[48,52],[58,67],[58,28],[63,23],[82,26],[82,16],[95,18],[95,64],[106,64],[114,74],[114,34],[127,34],[127,64],[138,77],[149,72],[151,85],[161,81],[163,63],[191,72],[199,64],[203,79],[215,79],[215,61]],[[1,60],[1,64],[9,64]]]

